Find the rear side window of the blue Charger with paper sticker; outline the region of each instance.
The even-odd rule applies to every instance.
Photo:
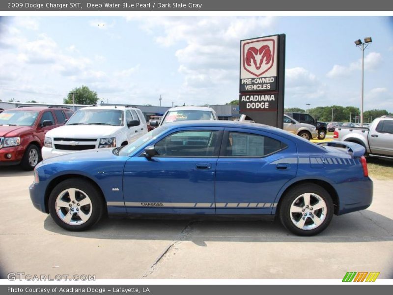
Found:
[[[286,145],[273,138],[243,132],[229,132],[226,157],[263,157],[275,153]]]

